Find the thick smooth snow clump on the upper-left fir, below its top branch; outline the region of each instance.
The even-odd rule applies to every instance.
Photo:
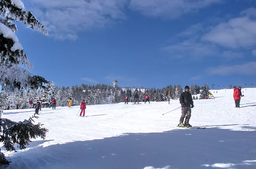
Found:
[[[0,34],[3,34],[5,38],[11,38],[14,41],[14,44],[11,48],[12,51],[15,50],[23,50],[22,45],[20,44],[18,37],[15,35],[15,33],[12,32],[10,28],[5,26],[0,22]]]

